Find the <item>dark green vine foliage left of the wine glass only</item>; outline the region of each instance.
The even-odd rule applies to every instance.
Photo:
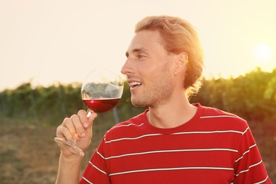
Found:
[[[65,116],[84,108],[79,86],[80,84],[59,84],[32,88],[30,83],[21,84],[14,90],[0,93],[0,115],[28,120],[30,123],[60,123]]]

